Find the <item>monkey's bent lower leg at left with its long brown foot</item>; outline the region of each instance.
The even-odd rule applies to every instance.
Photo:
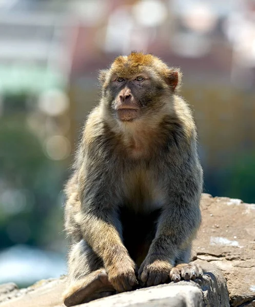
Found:
[[[84,240],[71,250],[68,261],[68,288],[64,304],[73,306],[115,293],[102,261]]]

